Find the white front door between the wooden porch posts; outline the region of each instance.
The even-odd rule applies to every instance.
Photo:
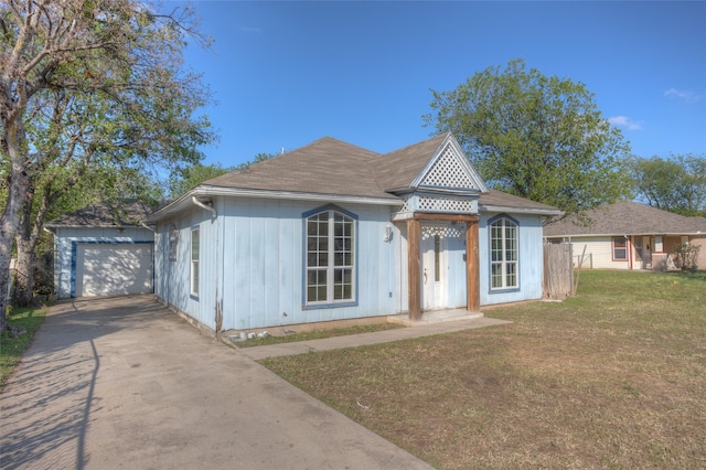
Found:
[[[446,242],[429,235],[421,242],[421,286],[424,310],[446,307]]]

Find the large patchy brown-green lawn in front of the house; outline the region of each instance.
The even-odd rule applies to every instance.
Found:
[[[263,363],[439,469],[706,468],[706,273],[485,314],[514,323]]]

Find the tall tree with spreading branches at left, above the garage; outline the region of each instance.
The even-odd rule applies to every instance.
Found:
[[[214,136],[194,117],[208,93],[184,67],[189,40],[203,40],[189,10],[0,0],[0,330],[20,224],[41,233],[52,205],[96,169],[145,174],[200,160]]]

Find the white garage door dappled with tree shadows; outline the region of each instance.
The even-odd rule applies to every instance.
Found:
[[[152,291],[152,244],[76,246],[76,297]]]

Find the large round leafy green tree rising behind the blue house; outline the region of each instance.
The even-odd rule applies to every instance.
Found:
[[[492,188],[566,213],[628,194],[621,162],[629,145],[584,84],[514,60],[432,94],[426,124],[453,132]]]

